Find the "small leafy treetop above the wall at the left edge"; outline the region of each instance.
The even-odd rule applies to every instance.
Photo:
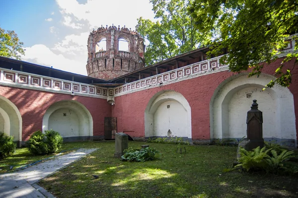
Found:
[[[20,60],[20,55],[25,55],[22,48],[23,44],[14,31],[7,30],[5,32],[4,29],[0,28],[0,56]]]

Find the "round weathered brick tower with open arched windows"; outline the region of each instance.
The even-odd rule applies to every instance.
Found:
[[[145,45],[125,26],[99,27],[88,37],[88,76],[110,80],[144,67]]]

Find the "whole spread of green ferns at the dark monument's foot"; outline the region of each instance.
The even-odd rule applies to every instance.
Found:
[[[240,148],[241,157],[239,157],[238,163],[235,167],[241,167],[248,171],[266,171],[267,173],[278,173],[282,169],[286,169],[284,163],[290,158],[295,157],[294,151],[280,150],[276,151],[273,148],[260,146],[247,151],[244,148]]]

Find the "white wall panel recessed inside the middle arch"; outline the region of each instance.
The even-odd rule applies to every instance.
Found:
[[[168,134],[169,130],[171,133]],[[187,137],[187,111],[174,100],[160,104],[154,113],[154,132],[155,136]]]

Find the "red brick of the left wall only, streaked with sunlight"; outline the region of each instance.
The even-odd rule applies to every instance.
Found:
[[[38,130],[42,130],[42,119],[47,109],[55,102],[75,100],[83,104],[93,118],[93,135],[104,135],[104,117],[111,116],[111,106],[106,99],[69,94],[0,86],[0,95],[9,99],[22,116],[22,141]]]

